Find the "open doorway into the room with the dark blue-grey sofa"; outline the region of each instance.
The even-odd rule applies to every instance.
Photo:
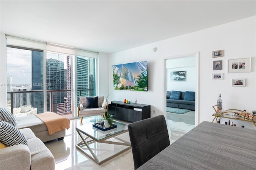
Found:
[[[164,58],[164,115],[170,142],[176,141],[198,125],[198,61],[199,53]],[[194,108],[166,103],[172,91],[194,92]],[[169,100],[168,100],[169,102]]]

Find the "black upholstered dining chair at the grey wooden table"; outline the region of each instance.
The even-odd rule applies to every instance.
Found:
[[[150,160],[170,145],[164,115],[158,115],[128,125],[134,169]]]

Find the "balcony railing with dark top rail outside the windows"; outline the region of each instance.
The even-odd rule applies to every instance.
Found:
[[[57,114],[67,114],[72,111],[72,100],[71,100],[71,90],[46,90],[47,92],[47,111],[55,112]],[[36,94],[39,93],[39,94]],[[32,108],[37,110],[38,113],[44,111],[43,102],[43,90],[31,90],[31,91],[11,91],[7,92],[10,94],[9,108],[11,113],[14,114],[14,109],[18,107],[23,107],[19,111],[26,113],[31,106],[26,106],[28,103],[32,105]],[[79,96],[90,96],[94,95],[94,89],[81,89],[77,90],[77,99],[79,102]],[[25,106],[24,106],[25,105]],[[42,111],[41,111],[42,110]],[[28,113],[31,112],[31,113]],[[35,111],[28,111],[26,115],[36,114]],[[44,111],[46,112],[46,111]],[[22,115],[22,114],[20,114]]]

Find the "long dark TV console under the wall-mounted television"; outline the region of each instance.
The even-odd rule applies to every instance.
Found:
[[[150,117],[150,105],[112,101],[108,113],[117,119],[135,122]]]

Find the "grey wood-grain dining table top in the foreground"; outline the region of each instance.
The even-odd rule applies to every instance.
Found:
[[[255,170],[256,131],[204,121],[138,170]]]

